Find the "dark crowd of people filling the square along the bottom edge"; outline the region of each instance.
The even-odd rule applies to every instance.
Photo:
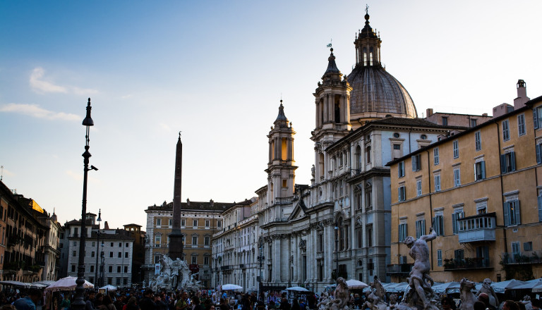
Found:
[[[207,294],[209,292],[210,294]],[[299,297],[299,298],[298,298]],[[153,292],[150,289],[121,289],[114,292],[88,290],[85,310],[317,310],[325,309],[332,294],[298,295],[292,298],[286,292],[256,293],[237,292]],[[498,308],[489,303],[487,294],[478,296],[474,310],[539,310],[539,299],[524,298],[519,302],[506,300]],[[400,296],[399,299],[400,300]],[[72,310],[73,292],[54,292],[46,297],[42,291],[4,290],[0,293],[0,310]],[[349,309],[366,308],[365,294],[351,294]],[[457,310],[451,297],[442,297],[443,310]]]

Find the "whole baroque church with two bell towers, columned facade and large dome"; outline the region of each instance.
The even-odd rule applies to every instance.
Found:
[[[385,165],[463,129],[417,118],[409,93],[383,68],[380,37],[365,18],[352,72],[340,72],[331,49],[314,92],[310,185],[295,183],[295,132],[282,101],[267,135],[267,185],[256,191],[260,232],[254,244],[263,289],[303,285],[320,292],[337,275],[389,282],[395,266]]]

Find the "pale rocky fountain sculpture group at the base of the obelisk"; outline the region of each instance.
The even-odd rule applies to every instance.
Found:
[[[167,254],[162,254],[159,260],[160,274],[149,281],[149,287],[157,292],[159,290],[172,291],[177,288],[199,290],[200,281],[195,280],[195,274],[191,274],[185,260],[171,259]]]

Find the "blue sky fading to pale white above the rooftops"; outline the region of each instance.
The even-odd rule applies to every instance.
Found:
[[[80,218],[88,98],[87,211],[143,225],[171,202],[183,142],[186,201],[240,202],[267,184],[279,100],[310,184],[313,92],[330,54],[355,64],[366,4],[381,61],[418,116],[488,113],[518,79],[542,95],[542,1],[0,1],[3,182],[60,223]]]

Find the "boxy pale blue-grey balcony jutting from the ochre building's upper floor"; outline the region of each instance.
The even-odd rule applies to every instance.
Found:
[[[459,243],[495,241],[495,212],[467,216],[457,223]]]

